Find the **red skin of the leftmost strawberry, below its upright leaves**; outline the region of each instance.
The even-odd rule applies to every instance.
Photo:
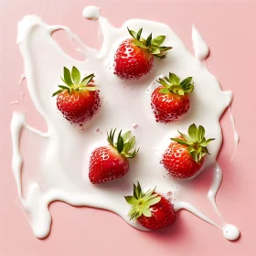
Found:
[[[70,123],[86,123],[100,109],[99,91],[61,91],[57,107]]]

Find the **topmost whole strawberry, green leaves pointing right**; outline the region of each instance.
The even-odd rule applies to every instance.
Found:
[[[128,27],[127,27],[128,28]],[[171,47],[161,47],[165,36],[152,39],[152,33],[142,38],[143,28],[138,33],[128,31],[132,38],[127,38],[117,49],[114,56],[114,74],[123,80],[139,79],[146,75],[153,67],[154,56],[165,59],[166,51]]]

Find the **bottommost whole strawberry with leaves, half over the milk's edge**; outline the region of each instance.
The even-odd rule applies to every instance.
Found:
[[[144,193],[137,183],[133,185],[133,196],[125,197],[132,205],[129,212],[130,220],[136,219],[147,229],[161,229],[176,220],[176,212],[171,202],[154,190]]]

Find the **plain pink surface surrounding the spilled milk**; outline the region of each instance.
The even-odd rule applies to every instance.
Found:
[[[129,2],[129,4],[128,4]],[[170,229],[145,233],[133,229],[123,219],[104,210],[73,208],[64,203],[50,206],[51,233],[37,240],[27,219],[16,204],[16,183],[11,170],[11,105],[25,91],[28,122],[44,125],[26,92],[26,82],[18,85],[23,59],[16,46],[16,24],[25,15],[43,16],[49,24],[70,27],[89,46],[97,46],[97,23],[86,21],[81,11],[86,5],[99,5],[102,15],[115,26],[129,18],[164,22],[191,47],[194,23],[211,50],[209,70],[217,76],[224,91],[233,91],[232,110],[240,133],[237,155],[230,164],[234,140],[229,112],[221,120],[224,143],[219,165],[224,181],[218,205],[224,218],[241,230],[240,240],[225,240],[215,229],[186,211],[177,214]],[[80,255],[256,255],[255,246],[255,61],[256,5],[253,1],[87,1],[87,0],[2,0],[0,3],[0,256],[80,256]],[[59,35],[64,40],[66,37]],[[63,43],[69,48],[69,44]],[[208,180],[203,174],[198,179]],[[200,189],[208,187],[198,185]],[[201,206],[208,212],[207,200]]]

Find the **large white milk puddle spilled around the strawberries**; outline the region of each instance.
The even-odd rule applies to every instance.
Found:
[[[170,137],[176,136],[177,129],[187,133],[191,123],[203,125],[207,131],[206,136],[216,138],[208,146],[211,155],[207,156],[202,171],[211,166],[215,178],[208,195],[214,210],[219,213],[215,202],[222,179],[221,169],[216,163],[222,141],[219,118],[229,106],[231,92],[221,91],[218,80],[201,63],[201,58],[192,56],[170,27],[140,19],[128,20],[121,28],[112,27],[100,15],[100,9],[94,6],[85,8],[83,14],[100,21],[104,37],[100,51],[83,45],[68,27],[48,26],[37,16],[25,16],[18,24],[17,42],[25,61],[27,89],[37,111],[48,125],[47,133],[37,131],[27,125],[26,114],[22,112],[14,112],[11,124],[12,166],[18,196],[37,238],[48,236],[51,226],[48,205],[56,200],[72,206],[108,209],[134,228],[145,230],[138,223],[129,221],[130,207],[123,199],[123,196],[131,194],[133,183],[139,180],[145,189],[156,186],[159,193],[172,195],[176,210],[186,208],[198,218],[221,229],[227,240],[236,240],[240,235],[239,229],[225,223],[222,218],[219,218],[221,224],[216,224],[184,200],[182,195],[187,191],[187,182],[190,180],[184,182],[166,176],[165,169],[159,164]],[[151,32],[154,36],[165,35],[165,45],[173,47],[166,59],[155,59],[155,68],[142,80],[119,80],[113,75],[112,69],[106,68],[112,63],[116,48],[123,39],[129,37],[126,27],[133,30],[144,27],[143,37]],[[78,42],[80,51],[86,56],[85,61],[72,59],[59,48],[51,37],[59,29],[66,31],[70,38]],[[194,47],[199,52],[201,45],[195,44]],[[95,84],[101,89],[101,110],[86,124],[83,131],[64,120],[57,110],[56,99],[51,97],[61,82],[59,76],[64,66],[76,66],[86,74],[95,73]],[[154,87],[156,78],[169,71],[181,79],[192,76],[195,91],[191,94],[191,110],[187,115],[176,123],[165,125],[155,123],[148,87]],[[135,129],[134,124],[139,128]],[[91,151],[99,145],[107,144],[106,131],[115,127],[123,131],[132,130],[140,153],[130,162],[130,171],[126,176],[109,184],[93,186],[88,178]],[[42,140],[42,144],[38,144],[38,152],[33,152],[33,155],[41,155],[37,170],[33,170],[40,178],[27,181],[26,186],[22,182],[23,156],[20,152],[20,137],[25,130],[37,134]]]

